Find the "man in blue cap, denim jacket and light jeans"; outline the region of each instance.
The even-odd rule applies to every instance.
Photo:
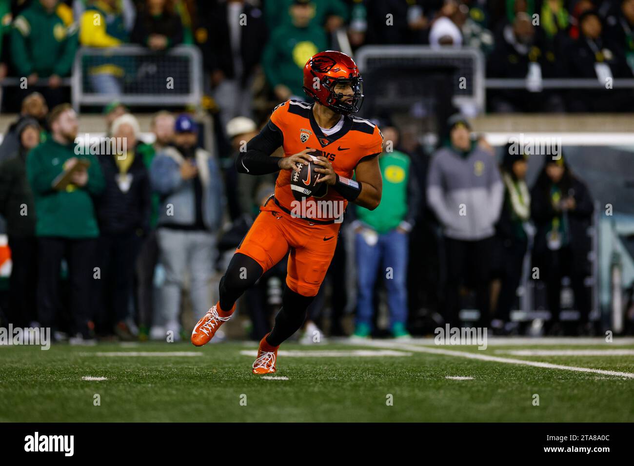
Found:
[[[197,147],[197,124],[190,115],[176,119],[174,146],[157,154],[150,167],[152,187],[161,197],[157,242],[165,283],[160,290],[159,316],[150,338],[179,335],[181,290],[190,275],[190,297],[195,318],[209,309],[210,278],[216,260],[216,233],[224,209],[223,180],[217,160]]]

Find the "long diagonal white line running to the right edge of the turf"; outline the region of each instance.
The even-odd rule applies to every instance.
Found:
[[[417,353],[443,354],[444,356],[458,356],[459,358],[479,359],[480,361],[491,361],[495,363],[517,364],[522,366],[541,367],[545,369],[571,370],[574,372],[590,372],[603,375],[614,375],[616,377],[626,377],[634,379],[634,373],[618,372],[616,370],[592,369],[588,367],[564,366],[560,364],[543,363],[540,361],[524,361],[524,359],[500,358],[499,356],[487,356],[486,354],[469,353],[467,351],[455,351],[451,349],[429,348],[425,346],[398,345],[391,342],[369,341],[365,346],[376,346],[380,348],[401,349],[415,351]]]

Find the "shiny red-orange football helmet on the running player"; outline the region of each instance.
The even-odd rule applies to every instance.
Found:
[[[354,94],[350,103],[335,93],[335,86],[349,83]],[[353,59],[345,53],[327,50],[311,56],[304,66],[304,92],[324,107],[339,113],[356,113],[363,103],[363,80]],[[347,96],[346,96],[347,97]]]

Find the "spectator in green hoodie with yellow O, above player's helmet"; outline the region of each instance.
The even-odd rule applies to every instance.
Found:
[[[311,56],[327,48],[326,33],[311,22],[314,12],[312,1],[295,0],[290,6],[292,23],[277,27],[264,48],[264,74],[280,101],[304,100],[301,70]]]

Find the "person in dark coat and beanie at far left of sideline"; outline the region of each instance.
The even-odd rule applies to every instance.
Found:
[[[6,219],[11,249],[9,283],[9,321],[16,327],[33,327],[37,320],[36,215],[33,193],[27,181],[27,153],[40,141],[40,126],[36,119],[25,117],[18,122],[15,133],[18,149],[0,164],[0,214]]]

